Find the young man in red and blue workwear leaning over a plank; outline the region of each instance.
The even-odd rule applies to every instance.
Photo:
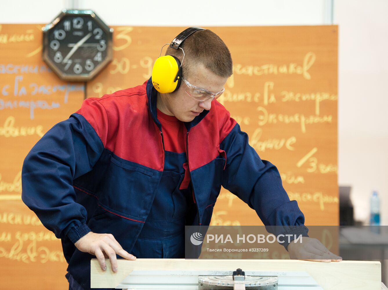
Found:
[[[116,255],[184,258],[185,225],[209,225],[221,186],[265,225],[307,236],[276,167],[259,158],[215,100],[232,75],[225,43],[199,28],[173,43],[166,55],[177,67],[183,61],[176,90],[160,92],[153,75],[138,87],[89,98],[24,161],[23,201],[61,238],[70,289],[90,288],[94,256],[104,270],[109,258],[113,271]],[[291,257],[331,260],[314,239],[284,245]]]

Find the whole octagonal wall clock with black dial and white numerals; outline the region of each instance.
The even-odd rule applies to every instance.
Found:
[[[91,80],[112,59],[112,30],[88,11],[63,12],[44,30],[43,59],[63,80]]]

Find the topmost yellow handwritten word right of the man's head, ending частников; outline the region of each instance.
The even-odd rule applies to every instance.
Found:
[[[278,74],[297,74],[302,75],[306,80],[311,80],[311,75],[308,70],[312,67],[316,59],[314,52],[308,52],[303,57],[303,64],[263,64],[261,66],[236,64],[233,66],[233,72],[237,75],[262,76],[262,75],[278,75]]]

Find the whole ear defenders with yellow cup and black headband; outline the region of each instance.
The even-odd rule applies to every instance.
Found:
[[[190,27],[182,31],[170,43],[170,47],[177,50],[182,49],[182,47],[179,47],[182,42],[198,30],[204,30],[204,28]],[[154,85],[154,88],[162,94],[175,92],[179,88],[182,80],[182,64],[185,59],[185,52],[183,49],[182,64],[175,56],[161,56],[162,49],[166,45],[169,45],[169,43],[162,46],[159,57],[156,59],[154,67],[152,68],[151,74],[152,85]]]

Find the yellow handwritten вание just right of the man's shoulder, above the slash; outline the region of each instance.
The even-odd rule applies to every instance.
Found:
[[[281,139],[266,139],[263,141],[260,141],[260,138],[262,137],[263,129],[257,128],[255,132],[253,132],[253,135],[249,138],[249,145],[251,145],[256,151],[264,152],[266,149],[268,150],[280,150],[283,147],[290,151],[294,151],[295,148],[293,147],[293,144],[296,143],[296,137],[291,136],[288,138],[281,138]]]

